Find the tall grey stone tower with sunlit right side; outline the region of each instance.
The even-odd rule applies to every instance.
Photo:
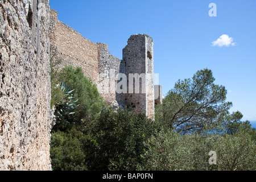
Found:
[[[127,76],[126,105],[154,119],[154,42],[148,35],[131,35],[123,48]]]

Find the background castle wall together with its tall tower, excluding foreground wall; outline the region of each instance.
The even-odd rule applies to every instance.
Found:
[[[107,44],[93,43],[84,38],[79,32],[60,22],[57,14],[57,11],[51,10],[49,38],[51,45],[57,48],[59,57],[63,59],[60,68],[65,64],[81,67],[85,75],[97,85],[101,96],[109,105],[129,106],[154,119],[154,42],[150,36],[131,35],[123,49],[121,60],[109,53]],[[126,81],[118,77],[120,74],[126,76]],[[139,79],[139,92],[132,76],[143,76]],[[127,84],[127,90],[122,93],[116,92],[120,81]],[[134,85],[129,86],[133,83]]]

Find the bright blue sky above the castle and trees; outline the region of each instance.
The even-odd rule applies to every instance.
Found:
[[[208,14],[210,3],[217,5],[216,17]],[[164,95],[179,78],[211,69],[215,83],[228,90],[230,111],[256,122],[255,0],[50,0],[50,6],[59,20],[94,43],[108,44],[120,59],[130,35],[150,35]]]

